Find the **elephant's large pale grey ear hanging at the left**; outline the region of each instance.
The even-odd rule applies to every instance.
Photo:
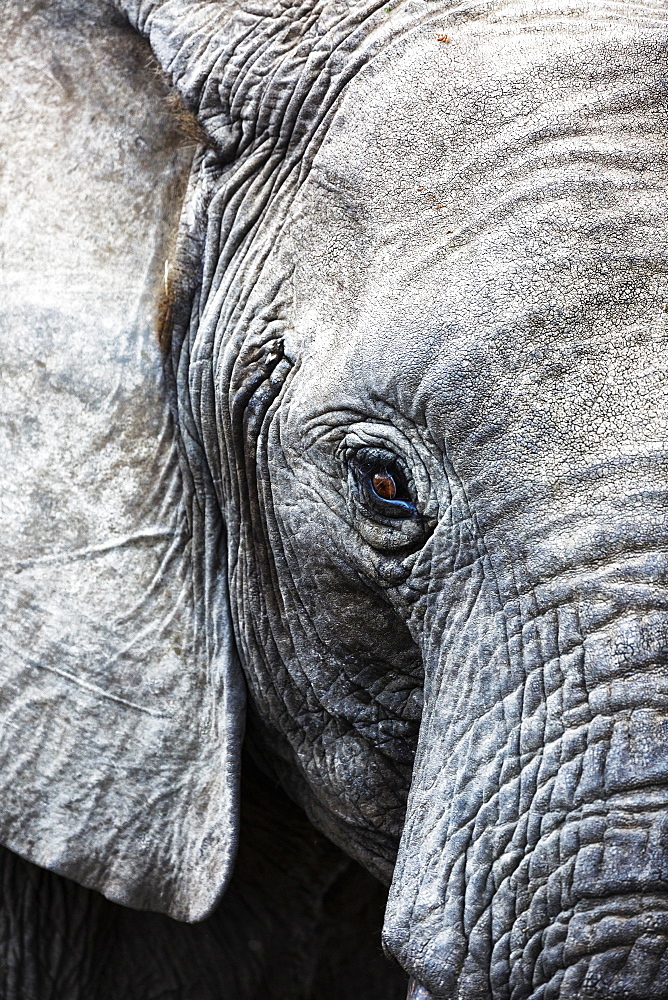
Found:
[[[233,864],[244,693],[155,337],[192,150],[105,0],[3,13],[0,841],[197,920]]]

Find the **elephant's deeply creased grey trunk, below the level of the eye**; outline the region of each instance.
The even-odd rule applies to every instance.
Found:
[[[450,615],[386,949],[433,1000],[668,996],[668,613]]]

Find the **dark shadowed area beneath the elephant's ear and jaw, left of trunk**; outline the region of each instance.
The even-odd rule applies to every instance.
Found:
[[[403,1000],[406,977],[380,947],[383,887],[249,761],[243,793],[234,877],[196,924],[118,906],[3,848],[0,995]]]

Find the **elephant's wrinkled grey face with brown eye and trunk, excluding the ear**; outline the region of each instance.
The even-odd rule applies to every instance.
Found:
[[[663,940],[667,147],[656,39],[616,32],[518,30],[521,73],[487,24],[391,47],[266,265],[291,367],[239,459],[252,702],[387,877],[424,684],[386,944],[443,998],[644,997]]]

